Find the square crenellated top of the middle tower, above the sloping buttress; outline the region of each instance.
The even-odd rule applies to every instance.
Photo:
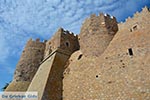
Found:
[[[46,42],[44,58],[56,49],[63,49],[73,53],[79,49],[78,35],[59,28],[55,35]]]

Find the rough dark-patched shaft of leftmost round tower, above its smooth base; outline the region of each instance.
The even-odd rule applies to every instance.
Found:
[[[43,60],[45,43],[30,39],[16,66],[14,81],[31,81]]]

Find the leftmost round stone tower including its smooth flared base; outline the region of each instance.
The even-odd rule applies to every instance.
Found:
[[[26,91],[44,57],[45,41],[29,39],[6,91]]]

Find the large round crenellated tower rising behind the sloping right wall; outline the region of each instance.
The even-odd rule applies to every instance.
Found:
[[[92,14],[81,27],[79,43],[86,56],[100,56],[118,31],[116,18],[108,14]],[[90,52],[89,52],[90,50]]]

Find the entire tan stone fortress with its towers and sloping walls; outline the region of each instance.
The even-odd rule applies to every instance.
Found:
[[[6,91],[38,91],[39,100],[149,100],[149,18],[147,7],[124,23],[93,14],[79,36],[60,28],[47,42],[29,40]]]

